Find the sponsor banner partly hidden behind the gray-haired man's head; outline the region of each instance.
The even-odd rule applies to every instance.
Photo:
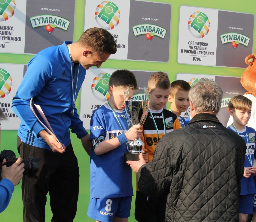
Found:
[[[192,87],[199,79],[201,78],[209,78],[213,79],[215,82],[218,82],[223,91],[223,98],[220,112],[217,117],[219,121],[226,126],[227,121],[230,117],[229,112],[227,111],[227,104],[229,100],[236,95],[244,95],[246,90],[240,83],[240,77],[232,77],[232,76],[215,76],[215,75],[202,75],[202,74],[189,74],[189,73],[178,73],[176,79],[183,79],[189,83]],[[190,116],[190,107],[188,107],[187,111],[181,113],[185,119]]]

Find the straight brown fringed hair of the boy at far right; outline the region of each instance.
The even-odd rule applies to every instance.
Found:
[[[227,104],[229,110],[250,110],[252,102],[250,99],[243,95],[237,95],[230,99]]]

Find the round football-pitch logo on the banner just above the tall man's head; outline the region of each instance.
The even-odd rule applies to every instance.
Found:
[[[97,24],[106,30],[114,29],[119,24],[120,10],[112,1],[102,1],[94,13]]]

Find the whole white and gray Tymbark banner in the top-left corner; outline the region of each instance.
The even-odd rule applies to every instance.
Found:
[[[74,39],[75,1],[5,0],[0,4],[0,52],[36,54]]]

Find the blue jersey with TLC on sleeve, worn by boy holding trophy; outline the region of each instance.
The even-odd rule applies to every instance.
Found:
[[[96,109],[91,118],[90,140],[111,140],[129,129],[123,110],[114,110],[122,125],[120,127],[113,111],[108,105]],[[90,154],[90,198],[133,196],[131,167],[124,161],[123,153],[128,152],[126,144],[95,155]]]

